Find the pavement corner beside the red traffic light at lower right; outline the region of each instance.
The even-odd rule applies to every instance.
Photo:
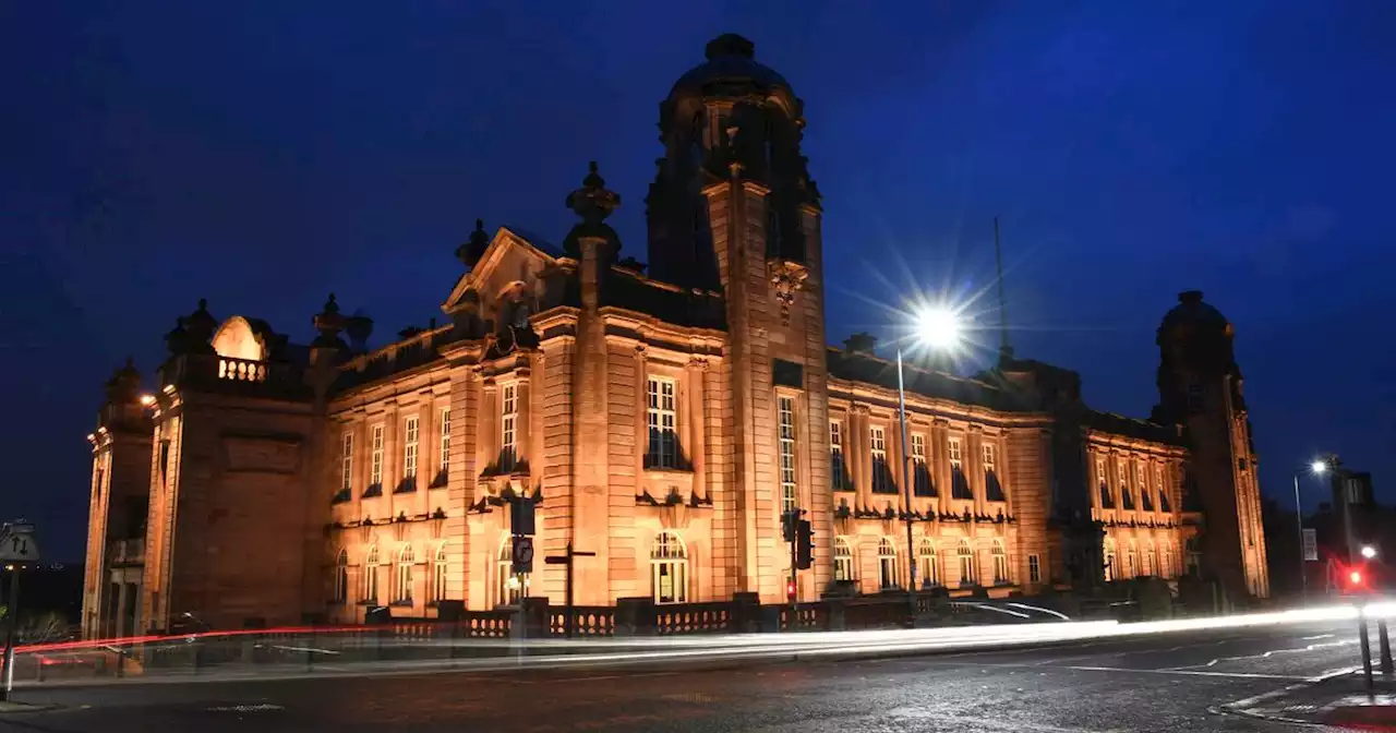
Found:
[[[1396,680],[1375,674],[1367,691],[1361,669],[1333,674],[1222,706],[1223,712],[1298,725],[1396,732]]]

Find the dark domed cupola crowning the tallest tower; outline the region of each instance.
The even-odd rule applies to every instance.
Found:
[[[801,208],[818,209],[819,194],[800,154],[803,112],[785,77],[757,63],[752,42],[726,34],[708,43],[706,61],[659,105],[664,156],[645,200],[655,278],[726,285],[712,226],[727,222],[712,215],[709,188],[732,177],[764,188],[768,256],[804,262]]]

